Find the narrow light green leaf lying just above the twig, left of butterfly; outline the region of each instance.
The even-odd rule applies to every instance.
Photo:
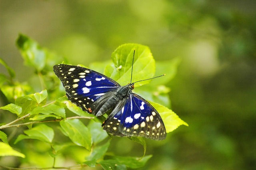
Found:
[[[65,115],[65,109],[62,108],[61,106],[57,106],[56,104],[50,104],[44,107],[37,107],[34,108],[34,110],[30,113],[31,115],[33,114],[55,114],[56,116],[60,116],[62,118],[66,118]],[[32,119],[30,119],[32,120]]]

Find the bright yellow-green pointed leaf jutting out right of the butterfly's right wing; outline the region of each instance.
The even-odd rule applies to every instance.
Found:
[[[162,120],[164,121],[166,133],[172,132],[173,130],[178,128],[180,125],[188,126],[188,124],[183,120],[181,120],[179,116],[176,113],[174,113],[172,110],[158,103],[150,102],[150,104],[152,104],[152,106],[158,111]]]

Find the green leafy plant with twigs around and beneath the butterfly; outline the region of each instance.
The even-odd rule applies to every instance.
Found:
[[[52,71],[53,64],[60,62],[56,59],[59,58],[57,54],[42,48],[37,42],[22,34],[17,40],[17,46],[24,58],[24,64],[35,70],[34,76],[38,77],[40,84],[28,85],[30,84],[29,79],[28,82],[16,81],[12,68],[0,60],[0,64],[6,68],[9,74],[0,74],[0,90],[6,98],[6,102],[9,103],[0,107],[0,114],[4,114],[5,117],[15,114],[17,117],[14,120],[6,119],[9,122],[2,120],[0,122],[2,125],[0,126],[0,139],[2,140],[0,156],[18,156],[20,165],[31,164],[32,166],[33,162],[34,169],[102,166],[105,170],[126,170],[127,168],[140,168],[146,164],[152,155],[145,156],[146,140],[144,138],[129,138],[142,144],[144,148],[142,158],[116,156],[108,152],[111,138],[101,128],[103,120],[83,112],[78,106],[68,101],[66,96],[62,97],[65,94],[64,88]],[[152,78],[156,72],[155,60],[150,49],[139,44],[121,45],[112,53],[112,63],[92,65],[94,67],[106,65],[104,70],[106,76],[121,85],[127,84],[130,82],[134,49],[136,49],[136,53],[132,81]],[[150,84],[148,84],[149,81],[136,83],[136,86],[147,84],[144,88],[138,88],[136,93],[152,100],[151,104],[160,113],[167,132],[171,132],[182,124],[188,126],[172,110],[165,107],[170,104],[168,98],[170,90],[164,84],[174,76],[178,62],[175,59],[164,64],[157,64],[158,68],[164,66],[162,70],[169,74],[160,81],[161,84],[154,80]],[[169,68],[166,63],[169,64]],[[98,69],[102,70],[102,68]],[[159,72],[157,70],[157,73]],[[40,88],[41,92],[33,90]],[[162,102],[164,106],[156,102]],[[20,130],[14,131],[15,134],[12,134],[11,138],[11,132],[7,129],[13,127]],[[30,150],[31,145],[37,147]],[[53,161],[50,161],[51,159]],[[63,166],[65,159],[74,160],[74,165]],[[0,167],[5,166],[0,165]]]

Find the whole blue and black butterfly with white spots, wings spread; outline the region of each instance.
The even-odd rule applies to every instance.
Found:
[[[53,70],[61,80],[68,100],[96,117],[108,114],[102,124],[106,132],[121,137],[166,138],[164,122],[156,109],[132,93],[136,82],[120,86],[111,78],[80,66],[58,64]]]

